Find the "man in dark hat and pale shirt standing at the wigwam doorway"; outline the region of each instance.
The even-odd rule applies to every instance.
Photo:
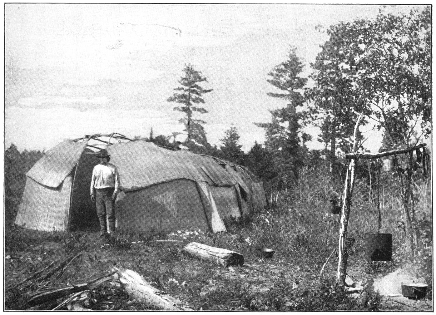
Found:
[[[97,153],[100,164],[94,166],[91,179],[91,200],[95,201],[100,221],[100,236],[115,232],[115,199],[119,192],[119,175],[116,166],[109,163],[110,157],[105,149]]]

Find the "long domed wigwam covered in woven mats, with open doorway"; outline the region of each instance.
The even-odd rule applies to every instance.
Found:
[[[225,231],[223,219],[266,205],[262,183],[245,167],[119,133],[95,134],[65,139],[29,170],[15,223],[43,231],[97,228],[89,186],[102,149],[119,171],[119,230]]]

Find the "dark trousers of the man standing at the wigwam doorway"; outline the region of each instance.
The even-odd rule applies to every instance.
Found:
[[[115,200],[112,200],[114,188],[95,190],[95,206],[100,221],[100,230],[106,231],[106,217],[108,219],[108,231],[115,231]]]

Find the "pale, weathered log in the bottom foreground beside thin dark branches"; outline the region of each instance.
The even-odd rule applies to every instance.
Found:
[[[129,298],[135,301],[140,301],[150,308],[156,308],[165,311],[180,311],[191,310],[190,308],[181,305],[180,300],[172,298],[170,295],[154,288],[144,278],[130,269],[119,269],[114,267],[116,271],[114,277],[117,278],[123,285],[124,290],[129,295]]]

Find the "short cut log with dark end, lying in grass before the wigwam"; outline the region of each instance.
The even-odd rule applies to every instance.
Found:
[[[244,256],[242,256],[242,254],[224,248],[191,242],[186,244],[183,250],[201,259],[212,261],[223,266],[242,266],[244,264]]]

